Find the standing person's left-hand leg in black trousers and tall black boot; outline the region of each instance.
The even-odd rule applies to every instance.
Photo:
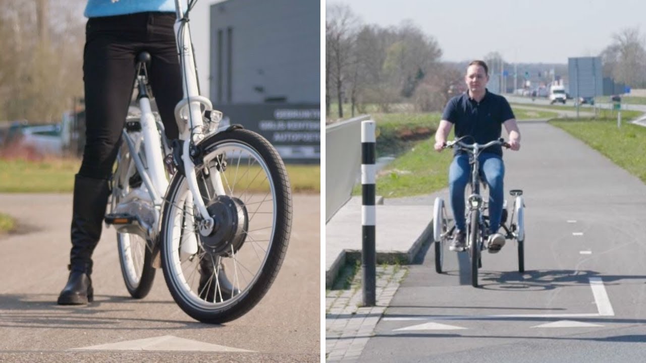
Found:
[[[86,140],[74,180],[70,276],[58,304],[92,301],[92,252],[101,236],[109,178],[134,79],[132,54],[125,42],[118,41],[123,31],[106,31],[105,24],[96,19],[90,19],[87,25],[83,53]]]

